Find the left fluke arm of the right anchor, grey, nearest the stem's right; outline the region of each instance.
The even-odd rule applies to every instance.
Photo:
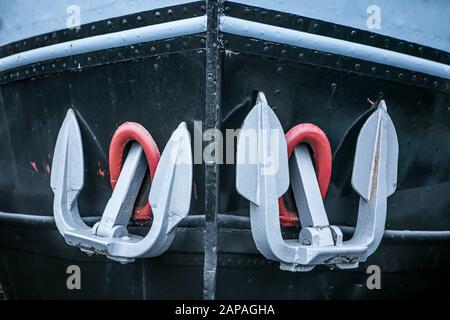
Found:
[[[247,137],[253,141],[246,141]],[[289,186],[287,145],[283,128],[262,92],[242,125],[236,158],[236,188],[250,201],[257,249],[271,260],[295,257],[295,246],[281,236],[278,207],[278,197]]]

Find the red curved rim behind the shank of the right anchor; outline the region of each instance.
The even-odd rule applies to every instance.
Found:
[[[302,123],[286,133],[288,157],[290,158],[295,147],[300,143],[307,143],[314,154],[314,168],[319,183],[322,198],[325,198],[331,178],[331,147],[326,134],[311,123]],[[284,227],[296,227],[299,225],[298,213],[289,211],[283,201],[278,199],[280,208],[280,222]]]

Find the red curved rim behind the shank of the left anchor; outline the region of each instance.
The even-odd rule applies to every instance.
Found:
[[[135,122],[125,122],[117,128],[109,147],[109,179],[113,190],[119,179],[120,171],[122,170],[125,147],[131,141],[139,143],[144,150],[150,169],[150,181],[153,180],[153,176],[155,175],[160,158],[158,146],[150,133],[143,126]],[[144,191],[142,198],[144,200],[141,201],[143,202],[142,204],[139,203],[139,199],[136,200],[133,209],[133,218],[135,220],[147,221],[151,217],[152,209],[148,202],[148,191],[149,190]]]

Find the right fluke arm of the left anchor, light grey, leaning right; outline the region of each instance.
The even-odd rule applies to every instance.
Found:
[[[164,149],[150,190],[153,223],[148,234],[137,242],[120,242],[111,248],[112,256],[154,257],[168,249],[177,224],[190,207],[192,152],[189,131],[182,123]]]

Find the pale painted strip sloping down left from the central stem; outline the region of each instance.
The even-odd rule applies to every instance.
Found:
[[[53,44],[4,57],[0,59],[0,72],[45,60],[205,31],[206,16],[201,16],[98,35]]]

